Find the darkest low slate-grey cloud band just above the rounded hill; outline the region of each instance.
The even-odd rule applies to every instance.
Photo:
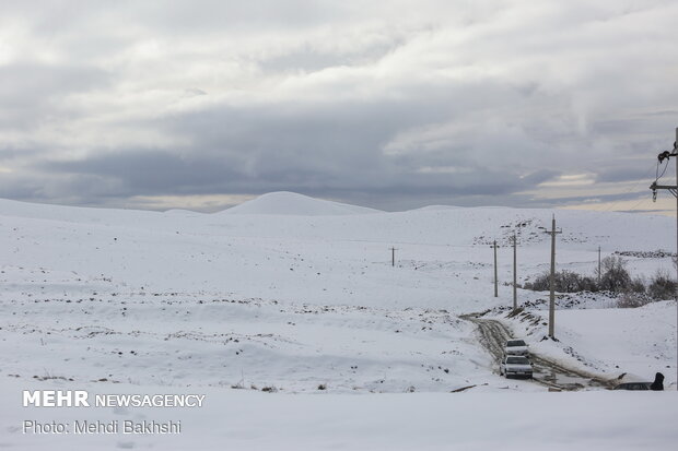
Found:
[[[292,189],[308,195],[341,198],[360,201],[369,193],[370,204],[388,207],[391,199],[456,199],[459,197],[507,197],[533,189],[535,181],[549,179],[551,174],[521,178],[503,173],[472,175],[421,175],[393,173],[386,177],[355,177],[346,188],[344,177],[337,177],[329,168],[303,167],[259,169],[257,175],[234,170],[237,162],[227,157],[188,157],[165,152],[105,154],[93,159],[50,163],[42,169],[62,174],[71,188],[86,193],[83,202],[91,202],[92,187],[105,182],[114,197],[172,194],[245,193],[261,194]],[[478,178],[481,174],[484,181]],[[538,182],[537,181],[537,182]]]

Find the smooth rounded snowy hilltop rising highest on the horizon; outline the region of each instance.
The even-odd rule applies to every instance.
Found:
[[[269,192],[225,210],[225,214],[274,214],[299,216],[341,216],[378,213],[378,210],[324,201],[294,192]]]

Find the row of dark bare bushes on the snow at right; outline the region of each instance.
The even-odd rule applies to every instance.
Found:
[[[627,269],[627,261],[618,256],[609,256],[600,262],[600,278],[598,274],[591,277],[572,271],[558,271],[554,277],[554,289],[559,293],[578,292],[611,292],[620,294],[619,307],[640,307],[651,300],[671,299],[675,296],[676,282],[665,270],[658,270],[645,283],[641,277],[631,277]],[[538,275],[534,281],[523,286],[535,292],[550,289],[550,273]]]

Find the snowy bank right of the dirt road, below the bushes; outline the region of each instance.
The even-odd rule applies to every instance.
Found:
[[[572,366],[583,365],[589,371],[608,376],[626,373],[624,381],[653,381],[657,371],[667,381],[676,379],[675,301],[652,302],[636,309],[558,311],[559,343],[541,340],[548,330],[547,310],[526,311],[510,320],[505,316],[496,318],[525,336],[533,351]]]

